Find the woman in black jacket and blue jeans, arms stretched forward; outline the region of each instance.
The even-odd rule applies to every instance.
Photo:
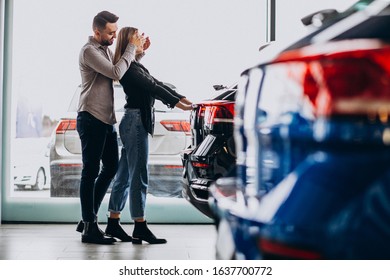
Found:
[[[129,38],[138,30],[124,27],[118,33],[114,61],[119,59],[126,49]],[[155,79],[139,62],[144,49],[150,41],[137,49],[138,59],[119,81],[126,93],[125,114],[119,124],[119,134],[123,143],[119,168],[111,191],[108,224],[106,234],[122,241],[142,244],[166,243],[156,238],[149,230],[145,219],[145,201],[148,188],[148,134],[153,135],[155,99],[170,108],[191,110],[192,103],[170,87]],[[133,236],[129,236],[120,225],[120,213],[127,197],[130,202],[130,214],[134,220]]]

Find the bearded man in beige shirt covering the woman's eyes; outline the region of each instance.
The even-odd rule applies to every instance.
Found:
[[[129,39],[123,56],[114,65],[108,48],[116,38],[118,17],[102,11],[93,19],[94,35],[82,47],[79,56],[81,94],[77,131],[81,140],[83,169],[80,182],[82,221],[77,231],[85,243],[112,244],[97,224],[97,213],[118,168],[118,142],[114,111],[113,80],[120,80],[135,59],[145,39],[135,34]],[[100,167],[101,166],[101,167]]]

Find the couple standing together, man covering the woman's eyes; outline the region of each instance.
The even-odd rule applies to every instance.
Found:
[[[150,46],[149,38],[133,27],[118,33],[115,54],[108,48],[117,37],[118,17],[102,11],[93,19],[93,36],[79,56],[81,94],[77,131],[81,140],[83,169],[80,182],[82,220],[77,226],[84,243],[141,244],[166,243],[154,236],[145,220],[148,188],[148,134],[153,135],[155,99],[168,107],[191,110],[191,102],[151,76],[139,62]],[[125,114],[119,134],[123,143],[118,159],[117,132],[113,100],[113,81],[118,80],[126,93]],[[97,213],[111,180],[116,175],[110,201],[107,228],[97,224]],[[120,213],[129,197],[134,220],[132,236],[120,224]]]

